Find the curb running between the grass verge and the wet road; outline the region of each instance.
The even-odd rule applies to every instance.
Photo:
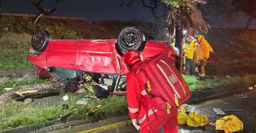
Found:
[[[206,99],[216,99],[219,97],[224,97],[227,95],[231,95],[231,94],[235,94],[238,92],[245,92],[246,88],[241,88],[241,89],[237,89],[237,88],[218,88],[218,89],[213,89],[213,90],[205,90],[202,92],[196,92],[195,94],[191,95],[191,98],[189,99],[189,101],[185,102],[186,104],[191,103],[191,102],[200,102],[200,101],[204,101]],[[97,122],[99,120],[104,119],[104,117],[106,118],[110,118],[112,116],[116,116],[116,115],[127,115],[128,110],[124,110],[122,113],[121,112],[113,112],[110,113],[108,116],[102,116],[102,118],[89,118],[89,120],[84,120],[83,117],[81,116],[72,116],[72,117],[68,117],[67,119],[64,120],[52,120],[50,122],[47,123],[40,123],[38,125],[28,125],[28,126],[24,126],[24,127],[17,127],[15,129],[10,129],[10,130],[4,130],[3,133],[33,133],[36,132],[40,133],[40,132],[49,132],[51,130],[58,130],[58,129],[64,129],[64,128],[68,128],[70,126],[75,126],[75,125],[81,125],[84,123],[92,123],[92,122]]]

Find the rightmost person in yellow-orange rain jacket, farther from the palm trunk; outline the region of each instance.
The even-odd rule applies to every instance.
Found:
[[[199,80],[205,79],[205,70],[207,59],[210,57],[210,52],[214,53],[211,45],[205,40],[204,36],[196,36],[198,46],[197,46],[197,57],[198,57],[198,72]]]

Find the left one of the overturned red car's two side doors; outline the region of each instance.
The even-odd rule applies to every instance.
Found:
[[[47,52],[47,65],[76,69],[79,40],[54,40]]]

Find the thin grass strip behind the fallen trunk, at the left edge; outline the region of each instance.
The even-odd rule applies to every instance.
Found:
[[[36,83],[45,83],[47,81],[50,81],[50,80],[45,78],[38,78],[38,77],[30,78],[28,81],[15,81],[13,78],[10,78],[8,80],[3,81],[2,85],[0,86],[0,94],[3,94],[5,92],[4,88],[21,87],[25,85],[33,85]]]

